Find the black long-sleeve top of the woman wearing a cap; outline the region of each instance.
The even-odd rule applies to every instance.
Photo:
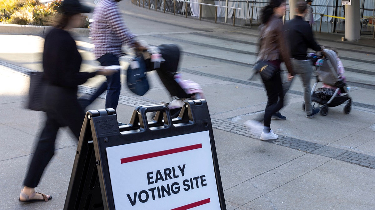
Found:
[[[80,72],[81,62],[75,41],[67,31],[54,28],[46,35],[43,69],[50,84],[77,90],[78,85],[95,76],[95,72]]]

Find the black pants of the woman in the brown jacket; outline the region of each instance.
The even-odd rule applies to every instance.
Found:
[[[269,81],[263,81],[266,87],[268,101],[266,109],[264,110],[264,121],[265,127],[270,127],[272,114],[278,112],[284,106],[284,90],[282,87],[282,81],[280,71],[272,77]],[[270,132],[268,129],[264,132]]]

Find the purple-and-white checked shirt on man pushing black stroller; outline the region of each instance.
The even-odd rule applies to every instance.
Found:
[[[113,53],[119,58],[125,54],[121,51],[123,44],[134,47],[135,34],[132,34],[127,28],[114,0],[99,1],[94,9],[93,19],[90,36],[95,44],[95,59],[107,53]]]

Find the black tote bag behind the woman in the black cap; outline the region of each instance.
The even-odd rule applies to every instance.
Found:
[[[35,111],[46,111],[44,105],[44,91],[46,82],[43,80],[43,72],[31,72],[28,108]]]

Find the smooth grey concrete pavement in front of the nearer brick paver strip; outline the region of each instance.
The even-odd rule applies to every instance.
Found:
[[[4,197],[0,209],[62,209],[77,142],[69,135],[69,129],[60,130],[55,156],[37,187],[38,191],[51,194],[53,199],[48,203],[20,203],[18,194],[25,169],[45,117],[42,112],[26,109],[27,75],[4,66],[0,71],[0,184]],[[150,102],[138,101],[136,104]],[[219,108],[217,104],[209,105]],[[98,99],[90,109],[103,106],[104,99]],[[134,106],[122,102],[119,120],[129,121],[133,109]],[[294,140],[288,146],[282,142],[293,140],[288,137],[274,143],[262,142],[239,124],[214,118],[212,121],[227,209],[375,207],[374,169],[339,160],[337,157],[346,155],[342,149],[319,147],[301,140]],[[293,146],[300,149],[292,149]],[[305,152],[301,146],[313,151]],[[362,158],[366,156],[346,153],[347,158],[357,157],[356,160],[361,158],[360,155]]]

